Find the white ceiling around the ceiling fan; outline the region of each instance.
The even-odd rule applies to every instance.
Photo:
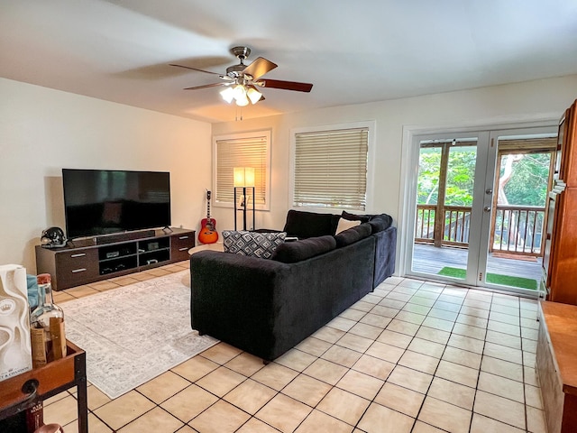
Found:
[[[0,77],[209,122],[215,75],[279,65],[243,117],[577,73],[577,0],[0,0]],[[1,96],[0,96],[1,97]]]

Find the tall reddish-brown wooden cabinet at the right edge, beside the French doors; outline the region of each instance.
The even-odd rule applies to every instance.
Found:
[[[547,300],[577,305],[577,101],[563,114],[543,258]]]

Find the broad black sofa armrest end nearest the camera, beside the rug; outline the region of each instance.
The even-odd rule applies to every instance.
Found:
[[[272,260],[215,251],[193,254],[191,327],[271,360],[268,350],[276,345],[275,315],[287,273],[286,264]]]

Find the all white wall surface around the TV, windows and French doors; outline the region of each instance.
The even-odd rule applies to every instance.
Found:
[[[282,92],[270,90],[270,97]],[[33,246],[42,229],[64,226],[62,167],[169,170],[173,226],[197,229],[206,216],[210,124],[3,78],[0,96],[0,263],[21,263],[35,272]],[[289,209],[291,128],[375,120],[367,211],[389,213],[399,225],[408,130],[554,122],[575,97],[577,76],[570,76],[213,124],[212,134],[271,130],[270,211],[257,212],[257,227],[281,228]],[[234,226],[232,209],[211,210],[219,230]]]

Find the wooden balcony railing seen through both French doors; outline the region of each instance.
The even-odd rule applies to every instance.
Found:
[[[435,224],[436,212],[436,205],[417,205],[415,242],[468,246],[471,207],[445,206],[441,227]],[[545,207],[498,205],[491,224],[490,252],[541,255],[544,218]]]

